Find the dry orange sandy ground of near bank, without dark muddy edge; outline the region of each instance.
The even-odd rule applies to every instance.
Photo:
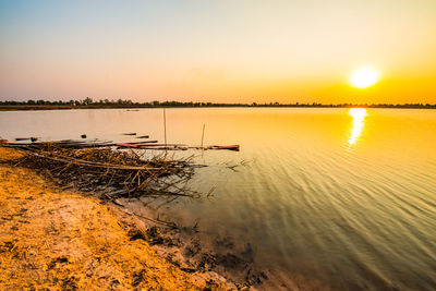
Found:
[[[97,198],[58,189],[13,165],[17,157],[0,147],[1,290],[229,287],[222,278],[211,281],[168,263],[143,239],[135,218]]]

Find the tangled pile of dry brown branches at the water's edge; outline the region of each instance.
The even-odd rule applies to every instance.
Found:
[[[63,187],[93,192],[100,198],[138,196],[196,196],[186,187],[194,173],[192,157],[148,158],[134,150],[65,148],[52,144],[19,147],[21,165],[43,170]]]

